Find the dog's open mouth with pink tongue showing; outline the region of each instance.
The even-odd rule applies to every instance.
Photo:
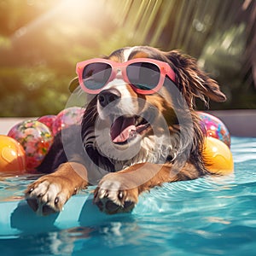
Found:
[[[110,136],[113,143],[125,144],[136,138],[137,135],[143,135],[150,125],[142,117],[120,116],[113,121],[110,128]]]

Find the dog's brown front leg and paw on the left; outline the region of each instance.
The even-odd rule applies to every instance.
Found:
[[[40,215],[60,212],[66,201],[87,185],[85,167],[67,162],[29,185],[25,191],[26,201]]]

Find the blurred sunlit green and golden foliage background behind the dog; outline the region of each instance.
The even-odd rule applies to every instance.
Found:
[[[195,57],[229,98],[211,109],[256,108],[254,0],[0,0],[0,14],[2,117],[60,112],[76,62],[138,44]]]

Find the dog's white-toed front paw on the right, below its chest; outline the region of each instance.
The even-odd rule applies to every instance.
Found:
[[[127,186],[119,173],[109,173],[102,178],[94,193],[94,202],[108,214],[131,212],[138,200],[136,186]]]

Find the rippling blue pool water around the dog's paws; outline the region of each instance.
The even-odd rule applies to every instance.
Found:
[[[256,255],[256,138],[232,137],[235,174],[168,183],[107,216],[90,189],[60,215],[19,199],[36,177],[0,178],[1,255]]]

